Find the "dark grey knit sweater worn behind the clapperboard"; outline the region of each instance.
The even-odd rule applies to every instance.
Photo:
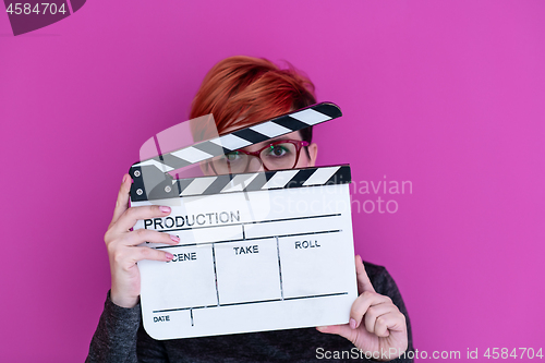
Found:
[[[364,265],[376,292],[390,297],[407,317],[408,351],[414,351],[409,315],[396,282],[383,266]],[[349,340],[315,328],[155,340],[144,330],[141,315],[140,304],[120,307],[111,302],[108,292],[86,362],[368,362],[360,358]]]

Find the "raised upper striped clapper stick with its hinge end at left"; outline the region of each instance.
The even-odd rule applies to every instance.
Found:
[[[174,180],[168,172],[341,116],[342,112],[337,105],[320,102],[222,136],[135,162],[129,170],[133,179],[131,201],[184,196],[187,193],[187,181]],[[226,176],[226,178],[232,179],[231,176]],[[209,193],[218,192],[214,187],[209,190]]]

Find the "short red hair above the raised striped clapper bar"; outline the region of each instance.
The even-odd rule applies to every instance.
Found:
[[[193,99],[190,119],[211,113],[221,135],[228,128],[249,126],[314,104],[314,84],[291,64],[280,70],[266,59],[235,56],[223,59],[206,74]],[[192,125],[195,141],[214,136],[205,125]],[[311,142],[311,128],[301,134]]]

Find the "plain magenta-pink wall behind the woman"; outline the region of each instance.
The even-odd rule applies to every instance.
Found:
[[[355,193],[398,210],[353,221],[419,350],[545,348],[544,19],[541,0],[95,0],[13,37],[0,13],[0,361],[84,360],[121,177],[233,55],[289,60],[342,108],[319,164],[412,182]]]

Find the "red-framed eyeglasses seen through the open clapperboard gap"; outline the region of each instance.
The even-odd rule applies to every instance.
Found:
[[[279,140],[254,153],[234,150],[217,156],[208,165],[218,176],[258,170],[262,165],[265,170],[291,169],[298,164],[303,146],[308,146],[308,142]]]

